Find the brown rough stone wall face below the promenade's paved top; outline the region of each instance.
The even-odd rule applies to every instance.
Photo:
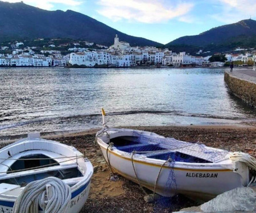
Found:
[[[241,98],[247,105],[256,108],[256,83],[233,77],[226,72],[224,80],[234,95]]]

